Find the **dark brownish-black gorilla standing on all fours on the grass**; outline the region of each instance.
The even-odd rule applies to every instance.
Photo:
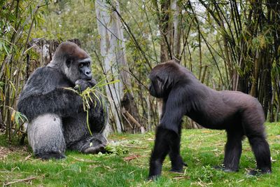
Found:
[[[257,99],[242,92],[216,91],[200,83],[185,67],[174,61],[156,66],[149,75],[149,92],[163,99],[160,125],[155,134],[149,179],[160,176],[162,162],[169,154],[172,172],[182,172],[180,155],[181,120],[184,115],[203,127],[225,130],[223,170],[236,172],[241,156],[241,140],[248,137],[257,162],[249,174],[272,172],[269,145],[265,139],[265,117]]]

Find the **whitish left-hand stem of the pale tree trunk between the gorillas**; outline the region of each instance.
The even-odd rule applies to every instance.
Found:
[[[118,75],[117,53],[118,53],[118,27],[116,25],[116,15],[109,9],[109,4],[106,1],[95,1],[95,11],[97,14],[97,27],[101,36],[100,53],[104,62],[104,74],[106,81],[120,80]],[[116,35],[117,34],[117,35]],[[117,82],[106,85],[106,94],[109,99],[111,115],[115,130],[123,132],[121,120],[120,97],[123,95],[123,83]],[[121,91],[121,92],[120,92]]]

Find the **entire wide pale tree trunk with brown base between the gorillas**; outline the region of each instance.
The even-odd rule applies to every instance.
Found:
[[[123,28],[116,13],[116,11],[120,13],[118,1],[97,0],[95,6],[106,80],[108,82],[120,80],[118,83],[106,85],[116,131],[144,132],[144,127],[140,125],[137,104],[131,92],[130,74],[127,73]]]

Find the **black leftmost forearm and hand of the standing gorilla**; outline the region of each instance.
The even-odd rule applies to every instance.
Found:
[[[148,179],[155,179],[157,176],[160,176],[162,162],[165,160],[167,153],[169,153],[169,133],[170,130],[166,130],[162,127],[158,127],[155,133],[155,146],[151,155]]]

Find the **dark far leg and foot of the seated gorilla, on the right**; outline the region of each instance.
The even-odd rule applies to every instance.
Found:
[[[64,137],[67,147],[83,153],[104,151],[107,142],[104,130],[108,121],[108,108],[104,106],[102,96],[97,99],[91,95],[91,98],[93,102],[88,110],[88,120],[92,134],[87,128],[86,112],[78,113],[75,117],[62,118],[66,124]]]

